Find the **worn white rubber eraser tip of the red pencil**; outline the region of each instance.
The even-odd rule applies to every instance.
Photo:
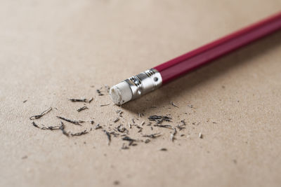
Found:
[[[132,99],[133,93],[130,85],[122,81],[110,88],[110,97],[115,104],[124,104]]]

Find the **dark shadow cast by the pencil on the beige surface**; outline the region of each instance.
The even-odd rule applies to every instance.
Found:
[[[122,105],[122,108],[126,111],[138,113],[143,111],[149,112],[150,110],[153,110],[152,106],[163,107],[169,105],[170,107],[170,102],[176,99],[176,97],[181,97],[183,92],[192,90],[192,88],[195,88],[201,83],[208,83],[216,78],[216,76],[227,74],[230,69],[241,66],[242,64],[249,62],[249,60],[259,57],[261,54],[267,53],[277,46],[281,46],[281,31],[251,43],[230,55],[221,57],[211,64],[207,64],[190,74],[182,76],[176,81],[164,85],[162,88],[150,92],[148,95],[144,95],[133,102],[128,102]]]

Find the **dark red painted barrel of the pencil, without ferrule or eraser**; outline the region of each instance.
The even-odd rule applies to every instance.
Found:
[[[163,85],[279,29],[281,29],[281,12],[154,68],[161,74]]]

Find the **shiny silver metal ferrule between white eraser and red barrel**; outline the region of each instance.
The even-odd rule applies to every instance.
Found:
[[[136,99],[162,85],[162,76],[156,69],[148,69],[141,74],[125,80],[130,85],[133,97]]]

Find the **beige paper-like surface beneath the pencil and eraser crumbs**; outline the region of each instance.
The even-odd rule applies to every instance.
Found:
[[[280,32],[125,104],[117,123],[104,88],[280,9],[280,0],[2,0],[0,186],[280,186]],[[67,100],[84,97],[93,102],[80,113],[84,104]],[[162,136],[123,150],[103,130],[66,137],[32,126],[50,106],[36,123],[87,120],[65,123],[80,132],[134,118],[142,134]],[[171,114],[173,127],[185,119],[174,142],[172,130],[147,126],[156,114]]]

